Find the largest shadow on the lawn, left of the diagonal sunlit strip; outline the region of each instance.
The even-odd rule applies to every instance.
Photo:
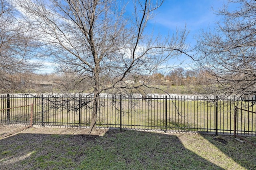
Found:
[[[177,136],[109,130],[104,136],[20,133],[0,140],[6,169],[222,169]]]

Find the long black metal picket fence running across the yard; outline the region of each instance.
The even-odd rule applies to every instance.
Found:
[[[0,123],[29,124],[29,109],[6,109],[34,104],[33,125],[89,127],[93,96],[1,95]],[[234,121],[234,109],[240,110]],[[3,110],[4,109],[4,110]],[[26,110],[28,113],[26,113]],[[245,111],[250,110],[251,112]],[[191,131],[213,134],[256,135],[255,98],[202,96],[102,96],[97,126],[119,129]],[[24,114],[28,122],[15,115]]]

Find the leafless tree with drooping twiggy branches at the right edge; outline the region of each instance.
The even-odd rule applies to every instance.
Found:
[[[238,6],[229,10],[230,5]],[[221,96],[255,95],[256,1],[229,0],[217,12],[222,20],[198,40],[198,62],[212,86],[208,93]]]

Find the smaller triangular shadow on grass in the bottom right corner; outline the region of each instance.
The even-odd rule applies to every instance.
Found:
[[[243,141],[237,141],[233,136],[228,135],[202,135],[218,150],[232,158],[237,164],[248,170],[256,170],[256,147]],[[256,137],[244,137],[252,143],[256,143]]]

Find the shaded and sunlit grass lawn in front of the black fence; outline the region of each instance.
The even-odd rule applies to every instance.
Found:
[[[0,127],[1,130],[1,127]],[[232,136],[29,128],[0,139],[0,169],[256,169],[256,147]],[[256,143],[256,137],[247,137]]]

